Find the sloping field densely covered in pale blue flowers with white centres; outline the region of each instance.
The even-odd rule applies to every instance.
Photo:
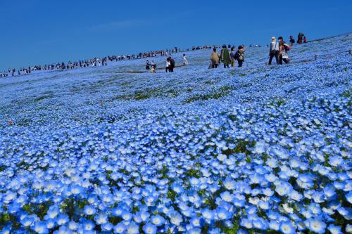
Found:
[[[352,233],[351,44],[1,79],[1,233]]]

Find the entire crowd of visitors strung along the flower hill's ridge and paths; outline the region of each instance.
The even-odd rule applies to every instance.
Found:
[[[282,65],[282,63],[289,63],[289,56],[287,54],[287,51],[290,50],[291,46],[294,45],[296,42],[294,40],[293,36],[289,37],[289,44],[287,44],[282,37],[278,37],[278,40],[276,37],[272,37],[270,46],[267,45],[267,47],[270,47],[269,51],[269,65],[272,63],[272,59],[275,57],[276,63],[278,65]],[[306,43],[307,38],[306,36],[300,32],[298,33],[297,37],[297,44],[302,44]],[[249,47],[261,47],[261,46],[254,46],[254,45],[249,45]],[[79,60],[77,62],[71,62],[69,61],[68,63],[53,63],[53,64],[48,64],[48,65],[35,65],[32,67],[21,67],[18,70],[15,70],[14,68],[9,68],[8,70],[4,72],[0,72],[0,78],[3,77],[14,77],[14,76],[20,76],[24,74],[30,74],[31,72],[34,71],[46,71],[46,70],[70,70],[70,69],[75,69],[75,68],[82,68],[82,67],[101,67],[101,66],[106,66],[108,65],[109,62],[114,62],[114,61],[122,61],[122,60],[131,60],[131,59],[141,59],[141,58],[153,58],[157,56],[168,56],[166,59],[166,66],[165,66],[165,72],[173,72],[175,68],[175,60],[171,57],[171,53],[177,53],[177,52],[182,52],[182,51],[196,51],[196,50],[201,50],[201,49],[209,49],[213,48],[212,53],[210,54],[210,65],[209,68],[217,68],[220,66],[220,63],[224,65],[225,68],[230,68],[235,67],[236,61],[238,63],[238,67],[242,67],[244,63],[244,58],[245,58],[245,46],[241,45],[238,46],[236,51],[235,51],[235,46],[231,46],[230,44],[226,46],[225,44],[222,46],[220,53],[217,52],[217,48],[219,46],[192,46],[191,49],[187,50],[181,50],[180,48],[172,48],[168,50],[160,50],[160,51],[150,51],[150,52],[145,52],[145,53],[138,53],[138,54],[133,54],[133,55],[125,55],[125,56],[107,56],[103,58],[93,58],[89,60]],[[183,65],[188,65],[188,59],[186,54],[183,54]],[[146,60],[146,70],[151,70],[152,73],[156,72],[156,63],[152,60],[149,62],[149,60]]]

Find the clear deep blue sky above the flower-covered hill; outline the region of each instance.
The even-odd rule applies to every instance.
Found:
[[[282,4],[279,4],[282,2]],[[351,0],[0,0],[0,70],[203,44],[352,31]]]

